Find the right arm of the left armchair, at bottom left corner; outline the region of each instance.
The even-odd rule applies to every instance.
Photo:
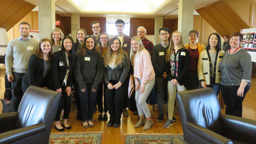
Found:
[[[43,132],[46,128],[45,123],[34,124],[28,127],[16,129],[0,134],[0,144],[12,144],[39,132]]]

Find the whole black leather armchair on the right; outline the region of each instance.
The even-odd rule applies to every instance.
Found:
[[[212,88],[177,93],[188,144],[256,144],[256,121],[221,114]]]

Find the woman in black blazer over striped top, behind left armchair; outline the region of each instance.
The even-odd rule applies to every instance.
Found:
[[[43,38],[35,54],[28,60],[28,72],[22,77],[22,91],[25,93],[28,86],[35,85],[47,88],[46,76],[51,70],[53,56],[52,43],[48,38]]]

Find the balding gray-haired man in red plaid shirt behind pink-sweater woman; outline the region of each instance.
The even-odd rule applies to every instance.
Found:
[[[147,51],[149,52],[151,58],[152,58],[152,53],[153,53],[153,43],[148,40],[145,36],[147,35],[147,30],[145,29],[145,27],[143,26],[140,26],[138,27],[137,29],[137,36],[141,38],[142,40],[142,43],[143,43],[143,46],[144,48],[147,49]]]

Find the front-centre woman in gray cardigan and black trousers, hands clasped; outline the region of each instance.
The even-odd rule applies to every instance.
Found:
[[[121,124],[125,98],[128,97],[130,62],[128,54],[120,47],[117,37],[110,39],[104,58],[104,80],[106,104],[110,114],[108,127],[118,128]],[[101,100],[102,101],[102,100]]]

